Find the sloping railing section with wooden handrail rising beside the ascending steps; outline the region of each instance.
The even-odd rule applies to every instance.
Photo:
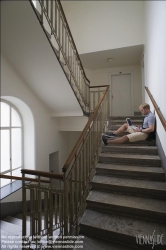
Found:
[[[101,133],[109,115],[109,86],[103,92],[75,147],[69,155],[64,172],[64,234],[77,235],[80,216],[85,210],[93,170],[98,162]]]

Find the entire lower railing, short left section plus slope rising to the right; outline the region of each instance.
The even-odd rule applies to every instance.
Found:
[[[49,238],[54,237],[54,231],[57,237],[62,238],[78,235],[79,220],[85,210],[86,198],[101,149],[101,133],[104,131],[108,115],[109,86],[102,92],[97,106],[66,160],[62,168],[63,174],[21,170],[23,236],[28,235],[26,216],[30,215],[31,218],[30,237],[27,242],[24,242],[23,249],[28,244],[29,247],[32,247],[32,244],[36,244],[35,246],[42,244],[43,236],[46,237],[48,244]],[[25,175],[36,175],[38,183],[26,183]],[[50,178],[51,182],[43,185],[41,177]],[[54,179],[61,181],[61,187],[54,185]],[[30,200],[29,213],[27,211],[28,199]],[[55,237],[53,239],[55,241]]]

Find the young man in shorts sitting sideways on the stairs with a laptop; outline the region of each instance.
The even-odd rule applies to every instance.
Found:
[[[112,137],[108,139],[105,135],[102,135],[102,141],[104,145],[107,144],[119,144],[124,142],[142,141],[148,138],[149,133],[155,130],[155,115],[150,111],[150,106],[147,103],[143,103],[139,106],[141,113],[145,116],[142,126],[138,126],[133,129],[128,123],[123,124],[117,131],[110,133]],[[124,135],[121,138],[116,139],[116,135],[127,131],[129,134]]]

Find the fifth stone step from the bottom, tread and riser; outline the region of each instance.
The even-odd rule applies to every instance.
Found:
[[[103,162],[103,163],[142,165],[142,166],[149,166],[149,167],[161,166],[161,160],[158,155],[101,153],[99,156],[99,162],[100,163]]]

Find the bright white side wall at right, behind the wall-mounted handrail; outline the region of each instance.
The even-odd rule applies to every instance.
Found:
[[[166,119],[166,1],[146,1],[145,17],[145,85]],[[145,100],[150,102],[147,94]],[[157,133],[166,155],[166,131],[158,116]]]

